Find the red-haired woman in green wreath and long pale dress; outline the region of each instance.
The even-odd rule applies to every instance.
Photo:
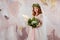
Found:
[[[44,24],[44,16],[39,4],[33,4],[32,16],[40,20],[39,27],[31,28],[27,40],[47,40],[46,26]]]

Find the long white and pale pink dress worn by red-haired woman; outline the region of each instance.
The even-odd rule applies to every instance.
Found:
[[[29,33],[27,40],[48,40],[47,39],[47,31],[46,31],[46,17],[41,14],[36,16],[39,20],[43,22],[43,25],[39,28],[32,29],[29,27]]]

